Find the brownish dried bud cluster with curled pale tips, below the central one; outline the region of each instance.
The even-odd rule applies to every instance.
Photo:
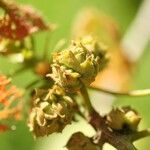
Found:
[[[28,126],[36,137],[61,132],[74,116],[74,101],[62,88],[37,90]]]

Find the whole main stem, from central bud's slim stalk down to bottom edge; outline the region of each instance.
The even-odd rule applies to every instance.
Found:
[[[99,142],[101,142],[102,140],[102,142],[109,143],[118,150],[137,150],[135,146],[130,141],[128,141],[127,138],[109,131],[107,125],[105,124],[104,118],[97,114],[93,109],[87,89],[84,85],[80,89],[80,93],[91,115],[90,120],[88,120],[89,123],[95,128],[95,130],[98,130],[99,128],[102,131],[102,135]],[[102,149],[102,145],[100,144],[100,149]]]

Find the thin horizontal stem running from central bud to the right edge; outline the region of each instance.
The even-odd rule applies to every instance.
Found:
[[[107,89],[101,89],[98,87],[89,87],[90,89],[104,92],[107,94],[115,95],[115,96],[131,96],[131,97],[138,97],[138,96],[148,96],[150,95],[150,89],[143,89],[143,90],[133,90],[128,92],[116,92],[116,91],[110,91]]]

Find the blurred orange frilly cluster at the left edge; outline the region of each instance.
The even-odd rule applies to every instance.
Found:
[[[0,75],[0,120],[20,119],[20,112],[22,110],[21,99],[22,91],[16,86],[10,85],[11,79],[4,75]],[[3,129],[4,129],[3,125]],[[2,126],[0,125],[2,129]]]

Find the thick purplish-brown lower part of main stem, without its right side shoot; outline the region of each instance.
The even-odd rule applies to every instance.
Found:
[[[132,144],[132,141],[135,139],[135,135],[128,137],[110,130],[109,126],[106,124],[105,118],[98,113],[93,112],[93,114],[91,114],[89,123],[96,131],[101,131],[101,134],[98,138],[100,148],[102,148],[104,143],[109,143],[117,150],[137,150]],[[141,136],[144,135],[142,134]],[[137,138],[140,138],[141,136],[138,136]]]

